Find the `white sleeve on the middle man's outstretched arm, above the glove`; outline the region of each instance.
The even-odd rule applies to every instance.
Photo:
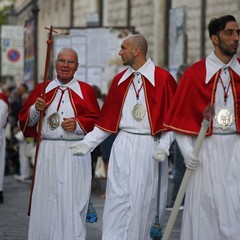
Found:
[[[105,132],[98,127],[94,127],[94,129],[84,137],[82,142],[88,145],[92,151],[101,142],[103,142],[109,135],[111,135],[110,132]]]

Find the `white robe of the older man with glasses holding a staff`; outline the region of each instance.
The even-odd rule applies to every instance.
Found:
[[[54,82],[52,82],[54,84]],[[49,84],[46,91],[51,88]],[[32,195],[29,240],[85,240],[86,213],[91,190],[91,157],[72,156],[69,146],[80,134],[65,132],[61,126],[50,130],[47,118],[56,112],[59,90],[43,118],[42,137]],[[60,105],[63,117],[74,112],[68,92]],[[65,140],[60,140],[61,138]]]

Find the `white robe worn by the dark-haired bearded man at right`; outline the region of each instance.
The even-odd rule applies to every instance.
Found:
[[[211,54],[210,58],[214,59]],[[224,64],[215,64],[224,69]],[[230,63],[231,64],[231,63]],[[213,65],[207,65],[214,70]],[[209,72],[209,71],[208,71]],[[212,71],[214,72],[214,71]],[[228,85],[228,71],[222,71],[224,85]],[[206,79],[207,81],[208,79]],[[224,92],[219,81],[216,91],[216,114],[224,106]],[[227,105],[234,112],[232,89]],[[238,240],[240,236],[240,137],[234,134],[235,123],[229,129],[220,128],[213,119],[213,135],[204,139],[199,153],[199,166],[188,184],[181,240]],[[220,135],[229,133],[226,135]],[[195,137],[176,134],[184,155],[194,146]]]

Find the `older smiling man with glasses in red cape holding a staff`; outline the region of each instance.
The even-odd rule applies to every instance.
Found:
[[[55,60],[57,76],[46,83],[46,99],[41,97],[40,83],[19,112],[24,136],[36,137],[43,111],[29,240],[86,238],[91,155],[72,156],[69,146],[93,129],[99,106],[93,88],[74,78],[78,65],[75,50],[60,50]]]

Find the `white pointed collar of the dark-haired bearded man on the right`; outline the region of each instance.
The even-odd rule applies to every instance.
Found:
[[[231,67],[231,69],[236,72],[238,75],[240,75],[240,67],[239,62],[237,60],[237,57],[234,55],[232,59],[229,61],[228,64],[224,64],[221,62],[219,58],[215,55],[214,52],[212,52],[207,58],[206,58],[206,79],[205,83],[207,84],[212,76],[219,70],[224,69],[226,67]]]

